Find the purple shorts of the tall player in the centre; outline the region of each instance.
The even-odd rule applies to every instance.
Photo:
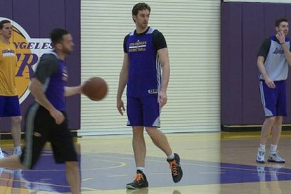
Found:
[[[127,96],[127,126],[160,127],[157,95],[141,98]]]

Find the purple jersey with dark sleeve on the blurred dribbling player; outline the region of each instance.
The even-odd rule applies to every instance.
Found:
[[[65,110],[65,85],[67,82],[67,67],[55,52],[41,56],[35,72],[39,82],[43,84],[46,98],[60,111]]]

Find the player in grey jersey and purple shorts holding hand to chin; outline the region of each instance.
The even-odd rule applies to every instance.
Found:
[[[289,32],[288,20],[279,18],[275,22],[276,35],[264,40],[259,49],[259,89],[264,108],[265,121],[261,127],[261,139],[257,152],[258,163],[265,162],[266,141],[272,133],[268,162],[285,163],[278,155],[277,147],[282,131],[283,116],[286,111],[286,79],[288,65],[291,65],[290,40],[285,37]]]

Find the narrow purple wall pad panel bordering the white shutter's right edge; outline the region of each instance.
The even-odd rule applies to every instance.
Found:
[[[242,122],[241,12],[241,4],[221,6],[221,124]]]

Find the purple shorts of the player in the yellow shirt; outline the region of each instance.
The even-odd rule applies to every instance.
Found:
[[[20,116],[18,96],[0,96],[0,117]]]

